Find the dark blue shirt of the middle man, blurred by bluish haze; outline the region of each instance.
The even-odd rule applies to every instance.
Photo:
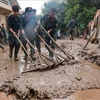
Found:
[[[20,29],[25,31],[28,38],[35,38],[36,32],[35,28],[37,26],[37,18],[33,15],[27,16],[23,14],[20,20]]]

